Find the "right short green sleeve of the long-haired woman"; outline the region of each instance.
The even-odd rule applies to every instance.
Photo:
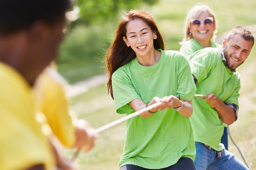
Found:
[[[196,85],[190,71],[188,60],[180,54],[177,75],[177,94],[184,100],[192,100],[195,93]]]

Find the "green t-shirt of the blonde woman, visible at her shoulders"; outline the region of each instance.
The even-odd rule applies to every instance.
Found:
[[[221,45],[211,41],[211,47],[221,48]],[[191,54],[203,48],[205,47],[199,44],[195,39],[192,38],[184,42],[184,44],[182,44],[182,46],[180,47],[180,53],[183,53],[186,59],[189,59]]]

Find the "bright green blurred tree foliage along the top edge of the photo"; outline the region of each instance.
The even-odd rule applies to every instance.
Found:
[[[80,8],[79,18],[72,25],[99,24],[113,20],[122,10],[134,9],[141,3],[154,4],[158,0],[76,0],[75,6]]]

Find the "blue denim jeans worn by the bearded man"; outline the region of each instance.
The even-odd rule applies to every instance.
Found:
[[[209,150],[203,143],[195,142],[196,170],[249,170],[236,156],[224,149],[218,158],[217,151]]]

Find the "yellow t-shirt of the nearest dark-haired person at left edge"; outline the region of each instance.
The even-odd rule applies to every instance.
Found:
[[[36,122],[32,90],[12,67],[0,62],[0,166],[26,169],[44,164],[54,169],[48,137]]]

